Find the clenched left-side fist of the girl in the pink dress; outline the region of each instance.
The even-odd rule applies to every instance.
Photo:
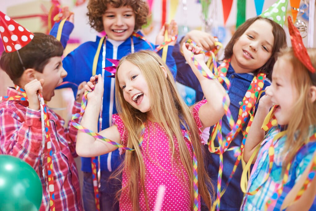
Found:
[[[98,100],[101,101],[104,91],[103,80],[101,74],[92,76],[90,81],[84,85],[85,92],[89,91],[87,98],[88,100]]]

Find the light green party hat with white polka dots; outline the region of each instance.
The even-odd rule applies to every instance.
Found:
[[[283,27],[288,3],[289,0],[279,0],[278,2],[272,4],[271,7],[266,9],[260,16],[269,18]]]

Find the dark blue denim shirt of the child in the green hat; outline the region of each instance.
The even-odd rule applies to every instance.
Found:
[[[173,57],[176,61],[176,65],[178,69],[176,80],[179,83],[184,84],[194,89],[196,91],[196,100],[200,101],[204,96],[201,85],[197,77],[194,75],[193,71],[191,70],[191,67],[185,62],[184,57],[179,52],[179,44],[176,45],[173,49]],[[236,122],[238,119],[240,105],[246,94],[246,91],[249,88],[250,83],[252,82],[253,75],[249,73],[236,73],[233,67],[229,65],[226,77],[229,79],[230,84],[231,84],[230,89],[228,90],[228,96],[230,98],[229,109],[234,121]],[[227,86],[225,83],[223,83],[223,86],[225,89],[227,89]],[[263,90],[267,86],[270,86],[269,80],[265,80]],[[262,93],[261,96],[263,95],[264,93]],[[258,103],[256,104],[256,109],[257,108],[258,108]],[[243,127],[244,130],[246,129],[248,122],[249,122],[249,117]],[[213,127],[210,128],[210,133],[212,132],[212,129]],[[227,118],[225,117],[222,118],[223,137],[226,137],[226,135],[230,131],[231,129],[229,127]],[[237,136],[235,136],[235,139],[231,142],[230,147],[241,146],[242,139],[243,139],[243,135],[240,132]],[[215,139],[215,146],[218,146],[217,137]],[[205,145],[205,150],[207,151],[207,155],[208,155],[206,158],[207,170],[212,180],[213,186],[216,189],[218,169],[219,169],[219,155],[214,154],[214,153],[209,153],[207,145]],[[230,176],[230,173],[233,170],[236,159],[237,157],[234,156],[234,151],[226,151],[223,154],[224,169],[223,169],[223,174],[222,174],[222,186],[221,186],[222,189],[224,188],[226,182],[228,181],[228,177]],[[240,205],[243,198],[243,193],[240,189],[241,173],[242,173],[242,166],[240,162],[232,180],[230,181],[228,185],[228,188],[225,194],[221,197],[221,204],[220,204],[221,210],[236,210],[237,211],[240,209]],[[214,197],[216,198],[216,193]]]

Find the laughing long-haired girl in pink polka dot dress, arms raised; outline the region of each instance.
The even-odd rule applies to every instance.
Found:
[[[162,192],[163,203],[161,207],[158,206],[159,210],[192,210],[193,201],[197,203],[193,194],[194,152],[193,158],[196,155],[198,166],[198,194],[209,208],[211,206],[200,135],[203,128],[214,124],[224,114],[222,99],[227,94],[217,80],[204,78],[197,71],[191,60],[192,52],[185,45],[183,50],[203,90],[208,90],[205,91],[207,101],[197,103],[191,112],[179,96],[171,72],[157,54],[140,51],[119,62],[115,76],[119,115],[114,115],[114,125],[100,134],[135,149],[125,152],[120,210],[157,208],[155,201],[159,199],[157,194],[160,186],[165,187],[165,192]],[[199,53],[200,50],[201,48],[197,48],[196,52]],[[203,54],[195,57],[199,63],[203,63]],[[205,63],[202,65],[206,68]],[[98,83],[94,85],[96,78]],[[103,94],[100,75],[92,77],[85,87],[91,93],[88,94],[88,104],[81,124],[90,130],[96,130],[98,114],[95,109],[100,109]],[[209,112],[210,110],[214,112]],[[143,124],[143,143],[139,146]],[[185,134],[189,134],[190,140],[184,138]],[[84,157],[117,149],[117,146],[95,140],[82,132],[77,141],[79,145],[76,151]],[[196,203],[194,210],[200,209],[200,204]]]

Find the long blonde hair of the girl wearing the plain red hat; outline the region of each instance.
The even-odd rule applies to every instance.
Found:
[[[316,48],[307,48],[313,67],[316,69]],[[316,126],[316,101],[311,102],[310,88],[316,86],[316,73],[311,73],[294,55],[292,48],[280,51],[279,58],[286,59],[293,65],[292,84],[298,93],[298,99],[293,105],[287,126],[287,140],[283,152],[287,153],[283,162],[283,172],[291,162],[296,152],[309,140],[309,127]]]

